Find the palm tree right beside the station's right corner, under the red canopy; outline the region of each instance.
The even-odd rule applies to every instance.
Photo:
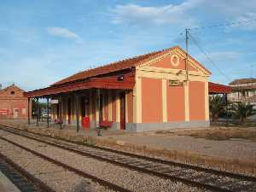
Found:
[[[212,121],[216,122],[218,120],[219,113],[224,112],[224,97],[219,95],[210,96],[209,103]]]

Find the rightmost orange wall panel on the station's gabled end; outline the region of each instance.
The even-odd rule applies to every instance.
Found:
[[[205,83],[189,82],[189,119],[205,119]]]

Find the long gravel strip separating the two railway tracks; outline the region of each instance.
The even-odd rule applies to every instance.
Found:
[[[0,133],[3,134],[3,131]],[[28,140],[24,137],[8,136],[8,134],[5,134],[5,137],[14,142],[19,142],[28,148],[37,150],[39,153],[45,154],[52,159],[60,160],[69,166],[78,168],[96,177],[101,177],[104,180],[132,191],[204,191],[189,187],[183,183],[174,183],[170,180],[131,171],[120,166],[113,166],[112,164],[87,158],[79,154],[73,154],[60,148],[54,148],[46,144],[43,145],[42,143]]]

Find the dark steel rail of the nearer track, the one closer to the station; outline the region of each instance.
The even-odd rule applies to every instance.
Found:
[[[108,189],[113,189],[115,191],[120,191],[120,192],[131,192],[131,190],[129,190],[129,189],[124,189],[124,188],[122,188],[122,187],[120,187],[120,186],[118,186],[116,184],[113,184],[113,183],[110,183],[108,181],[102,180],[101,178],[98,178],[98,177],[95,177],[93,175],[90,175],[90,174],[88,174],[86,172],[83,172],[83,171],[81,171],[79,169],[76,169],[76,168],[74,168],[72,166],[68,166],[67,164],[62,163],[61,161],[51,159],[48,156],[46,156],[44,154],[40,154],[37,151],[34,151],[34,150],[30,149],[30,148],[26,148],[26,147],[20,145],[19,143],[12,142],[9,139],[6,139],[4,137],[0,137],[0,139],[2,139],[3,141],[6,141],[8,143],[11,143],[11,144],[15,145],[16,147],[22,148],[22,149],[26,150],[27,152],[30,152],[30,153],[38,156],[41,159],[47,160],[47,161],[49,161],[49,162],[51,162],[51,163],[53,163],[53,164],[55,164],[57,166],[61,166],[64,169],[66,169],[66,170],[68,170],[70,172],[75,172],[79,176],[90,178],[92,181],[94,181],[96,183],[99,183],[102,186],[107,187]]]

